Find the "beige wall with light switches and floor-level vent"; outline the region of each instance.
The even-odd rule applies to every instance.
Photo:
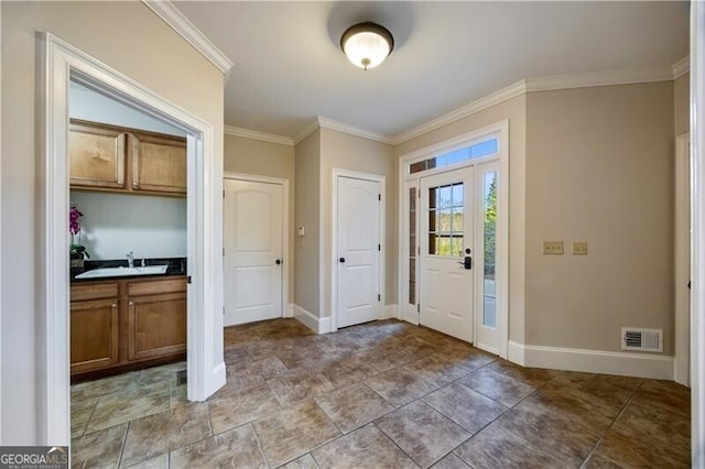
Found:
[[[528,95],[527,345],[619,351],[631,326],[673,353],[673,102],[671,81]]]

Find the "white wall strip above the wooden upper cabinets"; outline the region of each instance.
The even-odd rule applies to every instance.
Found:
[[[75,81],[68,88],[68,116],[75,119],[186,137],[175,127],[137,111]]]

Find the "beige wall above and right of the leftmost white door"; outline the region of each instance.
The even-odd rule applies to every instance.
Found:
[[[289,298],[294,301],[295,273],[295,167],[294,146],[263,142],[243,137],[225,135],[224,167],[226,173],[289,179]]]

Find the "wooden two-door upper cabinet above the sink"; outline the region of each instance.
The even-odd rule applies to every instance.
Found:
[[[68,141],[72,188],[186,194],[184,138],[72,120]]]

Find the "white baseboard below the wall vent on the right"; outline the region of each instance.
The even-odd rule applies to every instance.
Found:
[[[524,367],[673,380],[673,357],[524,346],[509,342],[509,361]],[[522,363],[523,361],[523,363]]]

